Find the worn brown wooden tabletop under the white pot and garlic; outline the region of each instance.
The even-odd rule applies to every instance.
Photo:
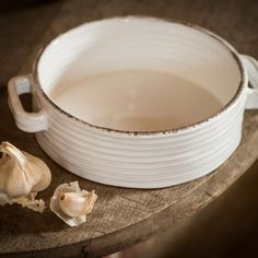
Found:
[[[256,1],[203,0],[191,1],[189,5],[189,1],[74,0],[37,7],[35,12],[34,9],[35,7],[30,11],[19,10],[16,14],[20,19],[23,17],[21,28],[28,27],[27,31],[15,32],[15,22],[20,20],[15,20],[15,13],[11,9],[11,14],[0,19],[0,28],[3,27],[0,38],[3,38],[2,33],[5,38],[5,42],[0,39],[0,44],[5,46],[0,50],[5,57],[4,66],[3,62],[0,64],[2,84],[5,84],[9,77],[16,75],[17,70],[20,73],[30,72],[36,51],[50,38],[83,22],[114,15],[144,14],[192,22],[218,33],[239,52],[258,58]],[[27,14],[23,14],[24,12]],[[11,24],[4,23],[10,15],[14,20]],[[30,21],[35,19],[35,24],[31,24]],[[7,38],[12,42],[9,46],[5,45]],[[19,43],[16,38],[23,40]],[[10,52],[12,49],[13,52]],[[26,97],[24,102],[28,106],[30,98]],[[51,168],[51,186],[42,192],[47,202],[59,184],[71,180],[79,180],[81,187],[95,189],[98,195],[87,223],[75,228],[68,227],[49,209],[37,214],[17,206],[0,208],[2,256],[11,253],[12,257],[96,257],[120,250],[175,226],[206,207],[241,177],[258,157],[258,112],[251,110],[245,114],[239,148],[212,174],[188,184],[159,190],[108,187],[66,172],[39,149],[33,134],[16,129],[7,105],[5,86],[0,87],[0,140],[8,140],[17,148],[40,156]]]

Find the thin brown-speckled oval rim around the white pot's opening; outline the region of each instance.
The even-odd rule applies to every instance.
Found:
[[[62,108],[60,108],[43,90],[40,83],[39,83],[39,78],[38,78],[38,62],[40,57],[43,56],[45,49],[50,46],[56,39],[58,39],[60,36],[68,34],[72,31],[75,31],[77,28],[81,27],[81,26],[85,26],[86,24],[91,24],[94,22],[101,22],[101,21],[107,21],[107,20],[115,20],[115,19],[121,19],[121,20],[126,20],[126,19],[149,19],[149,20],[156,20],[156,21],[164,21],[164,22],[169,22],[169,23],[174,23],[174,24],[178,24],[178,25],[184,25],[187,27],[191,27],[194,30],[197,30],[206,35],[209,35],[210,37],[212,37],[213,39],[218,40],[220,44],[222,44],[227,50],[228,52],[231,52],[232,57],[235,59],[239,72],[241,72],[241,81],[239,81],[239,85],[237,87],[237,91],[235,93],[235,95],[233,96],[233,98],[225,105],[223,106],[216,114],[201,120],[195,124],[189,124],[187,126],[184,127],[179,127],[179,128],[172,128],[172,129],[165,129],[165,130],[157,130],[157,131],[127,131],[127,130],[118,130],[118,129],[113,129],[113,128],[107,128],[107,127],[101,127],[101,126],[96,126],[93,124],[90,124],[85,120],[82,120],[67,112],[64,112]],[[237,51],[235,50],[235,48],[228,44],[225,39],[223,39],[222,37],[218,36],[216,34],[199,26],[199,25],[195,25],[188,22],[184,22],[184,21],[178,21],[178,20],[172,20],[172,19],[161,19],[161,17],[152,17],[152,16],[139,16],[139,15],[131,15],[131,16],[114,16],[114,17],[109,17],[109,19],[104,19],[104,20],[96,20],[96,21],[91,21],[87,23],[84,23],[80,26],[77,26],[74,28],[71,28],[62,34],[60,34],[59,36],[55,37],[54,39],[51,39],[48,44],[46,44],[37,54],[36,60],[33,64],[33,80],[34,80],[34,86],[42,93],[43,97],[56,109],[58,110],[60,114],[62,114],[63,116],[66,116],[69,119],[75,120],[77,122],[80,122],[82,125],[98,129],[98,130],[103,130],[106,132],[118,132],[118,133],[124,133],[124,134],[133,134],[133,136],[155,136],[155,134],[166,134],[166,133],[176,133],[179,131],[186,131],[189,129],[194,129],[196,127],[199,127],[212,119],[214,119],[215,117],[220,116],[222,113],[226,112],[231,106],[233,106],[236,101],[238,99],[239,95],[242,94],[242,92],[244,91],[244,86],[247,83],[247,77],[245,73],[245,69],[243,67],[243,63],[241,62],[241,59],[238,57]]]

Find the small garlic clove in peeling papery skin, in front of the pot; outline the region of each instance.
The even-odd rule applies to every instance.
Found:
[[[57,187],[50,200],[50,209],[70,226],[86,221],[97,199],[95,191],[81,190],[78,181]]]

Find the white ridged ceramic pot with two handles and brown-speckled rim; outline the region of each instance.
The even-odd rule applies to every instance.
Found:
[[[255,59],[237,54],[203,28],[151,17],[115,17],[84,24],[52,40],[38,55],[32,74],[9,82],[9,104],[17,127],[36,132],[42,149],[68,171],[107,185],[160,188],[207,175],[231,156],[241,142],[245,108],[258,107],[257,69]],[[176,129],[137,131],[108,126],[110,119],[120,121],[109,108],[120,93],[109,93],[106,104],[108,91],[94,92],[97,96],[105,92],[106,98],[101,97],[98,106],[90,106],[85,113],[94,121],[98,112],[109,110],[101,126],[75,117],[69,107],[60,108],[51,97],[55,89],[122,70],[176,74],[203,87],[222,106],[215,114]],[[248,87],[248,78],[253,87]],[[127,94],[127,87],[121,85],[121,90]],[[159,85],[154,90],[145,86],[141,94],[137,87],[132,90],[143,106],[154,91],[156,102],[148,104],[148,116],[175,112],[169,106],[174,103],[169,103],[169,90]],[[32,93],[35,113],[23,109],[19,97],[23,93]],[[122,118],[134,104],[120,97]],[[162,99],[167,105],[163,109]],[[209,104],[202,108],[209,110]]]

